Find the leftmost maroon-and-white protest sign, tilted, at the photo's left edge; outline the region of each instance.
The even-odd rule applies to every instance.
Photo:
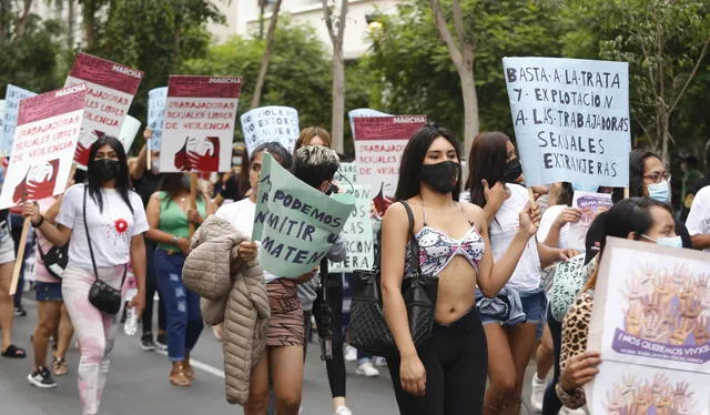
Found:
[[[87,91],[82,83],[22,100],[0,209],[64,192]]]

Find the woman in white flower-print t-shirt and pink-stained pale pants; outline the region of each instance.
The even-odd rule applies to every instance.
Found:
[[[122,290],[130,262],[138,293],[129,306],[138,313],[145,306],[143,233],[149,226],[141,198],[131,191],[121,142],[105,135],[91,145],[88,183],[75,184],[64,193],[57,225],[44,221],[34,203],[24,205],[24,216],[52,244],[63,246],[69,242],[62,296],[81,345],[78,381],[82,413],[97,414],[121,313],[99,311],[89,302],[89,290],[98,279]]]

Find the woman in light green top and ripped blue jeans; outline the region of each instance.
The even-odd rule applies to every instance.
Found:
[[[190,223],[200,226],[214,213],[209,198],[200,193],[196,205],[190,206],[190,174],[166,173],[160,191],[148,202],[148,237],[158,244],[155,275],[158,290],[165,301],[168,314],[168,356],[172,362],[170,382],[190,386],[194,371],[190,366],[190,352],[202,333],[200,297],[182,283],[182,267],[190,252]]]

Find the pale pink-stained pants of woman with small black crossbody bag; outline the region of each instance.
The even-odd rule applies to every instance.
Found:
[[[123,276],[123,266],[99,269],[101,280],[114,289]],[[67,311],[79,335],[81,358],[79,360],[79,399],[82,414],[99,413],[101,395],[106,384],[109,354],[113,348],[119,317],[101,313],[89,303],[89,289],[95,281],[93,272],[69,266],[62,279],[62,295]]]

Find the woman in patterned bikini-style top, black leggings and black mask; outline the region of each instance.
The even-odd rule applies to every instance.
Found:
[[[407,415],[481,414],[486,388],[486,336],[475,305],[478,286],[495,296],[506,284],[539,211],[519,212],[520,226],[507,252],[494,264],[484,211],[459,203],[458,143],[452,134],[426,125],[409,140],[399,168],[396,198],[383,220],[383,305],[398,353],[388,358],[397,404]],[[406,204],[405,204],[406,203]],[[408,252],[410,224],[419,252]],[[438,283],[432,336],[418,348],[412,340],[402,295],[404,277],[418,261],[422,274]]]

